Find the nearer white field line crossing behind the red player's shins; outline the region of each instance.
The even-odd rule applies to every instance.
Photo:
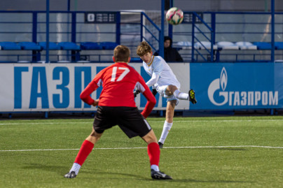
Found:
[[[183,149],[183,148],[225,148],[225,147],[261,147],[261,148],[271,148],[271,149],[283,149],[283,147],[261,146],[261,145],[184,146],[184,147],[163,147],[163,148]],[[93,150],[134,150],[134,149],[147,149],[147,147],[95,148]],[[34,152],[34,151],[64,151],[64,150],[80,150],[80,149],[0,150],[0,152]]]

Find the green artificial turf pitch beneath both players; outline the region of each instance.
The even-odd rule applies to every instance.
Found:
[[[148,118],[156,136],[164,118]],[[104,132],[78,176],[71,168],[92,119],[1,120],[0,187],[282,187],[283,117],[175,117],[152,180],[146,143]]]

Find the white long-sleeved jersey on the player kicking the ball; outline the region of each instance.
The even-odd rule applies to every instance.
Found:
[[[160,56],[152,56],[151,62],[146,64],[143,62],[144,70],[146,73],[151,75],[151,79],[146,82],[146,85],[149,87],[154,85],[155,88],[164,86],[164,85],[175,85],[180,89],[180,82],[177,80],[176,75],[174,75],[170,66],[165,62],[165,60]],[[154,81],[154,77],[158,76],[159,78]]]

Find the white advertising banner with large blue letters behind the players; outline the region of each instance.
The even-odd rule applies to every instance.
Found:
[[[92,111],[80,94],[94,76],[109,64],[0,64],[0,112]],[[149,80],[141,63],[130,63],[145,80]],[[174,66],[172,66],[174,65]],[[181,91],[190,89],[190,64],[172,63],[181,82]],[[100,87],[92,94],[99,97]],[[166,99],[156,95],[154,110],[165,110]],[[137,107],[143,109],[144,96],[137,96]],[[188,110],[189,102],[180,101],[176,109]]]

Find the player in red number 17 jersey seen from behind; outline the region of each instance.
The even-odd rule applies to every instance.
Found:
[[[151,178],[172,179],[169,175],[159,171],[159,145],[151,126],[145,120],[156,104],[155,97],[151,94],[151,90],[141,75],[128,65],[130,62],[129,48],[125,45],[118,45],[114,49],[113,62],[115,62],[113,65],[104,68],[95,75],[95,78],[81,93],[81,99],[85,103],[97,106],[97,113],[90,136],[81,145],[71,170],[64,175],[64,178],[76,178],[78,171],[104,130],[118,124],[129,138],[140,136],[148,144]],[[94,100],[90,94],[99,86],[103,87],[102,93],[99,99]],[[139,113],[132,94],[135,87],[147,99],[146,107],[141,113]]]

